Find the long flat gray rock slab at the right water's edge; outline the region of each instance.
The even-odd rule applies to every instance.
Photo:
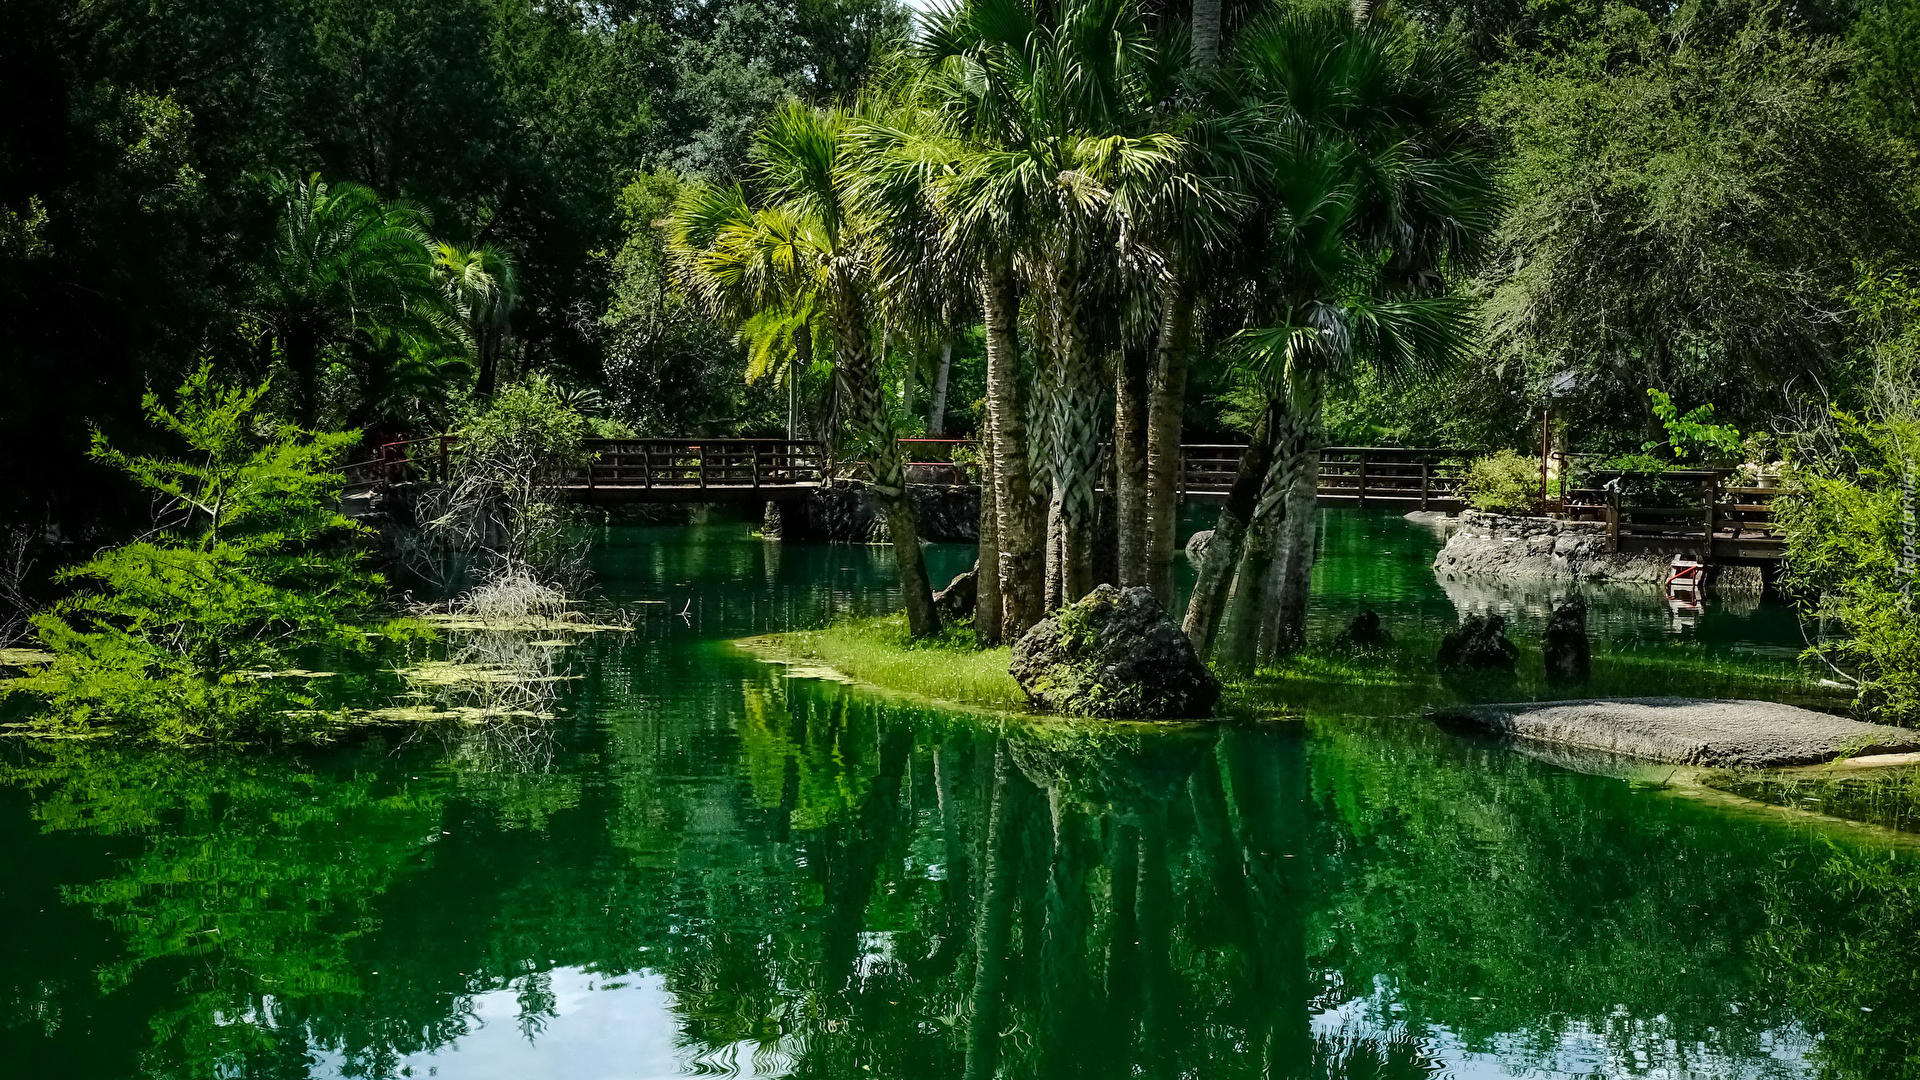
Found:
[[[1715,769],[1774,769],[1868,751],[1920,751],[1920,730],[1862,724],[1778,701],[1519,701],[1436,709],[1432,719],[1496,736]]]

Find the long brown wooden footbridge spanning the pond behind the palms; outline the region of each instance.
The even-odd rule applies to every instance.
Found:
[[[405,482],[447,477],[455,436],[394,442],[372,461],[348,467],[348,498],[365,498]],[[902,438],[908,482],[972,484],[973,442]],[[595,438],[588,465],[566,482],[570,498],[622,502],[783,502],[801,500],[833,477],[860,477],[860,461],[829,463],[826,446],[787,438]],[[1223,500],[1244,446],[1187,444],[1181,490],[1194,500]],[[831,465],[831,467],[829,467]],[[1319,503],[1332,507],[1461,509],[1467,471],[1450,450],[1329,446],[1321,452]],[[1668,488],[1690,488],[1674,505],[1638,505],[1622,496],[1619,473],[1596,473],[1599,488],[1567,490],[1548,511],[1574,521],[1607,523],[1615,552],[1657,552],[1716,563],[1776,561],[1786,548],[1774,528],[1776,488],[1728,484],[1724,471],[1663,473]]]

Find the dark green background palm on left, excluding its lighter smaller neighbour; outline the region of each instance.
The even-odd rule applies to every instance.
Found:
[[[252,275],[242,315],[259,348],[292,373],[294,415],[311,427],[330,348],[382,331],[436,332],[428,217],[361,184],[328,184],[319,173],[276,175],[269,188],[280,204],[275,244]],[[369,344],[386,352],[382,342]]]

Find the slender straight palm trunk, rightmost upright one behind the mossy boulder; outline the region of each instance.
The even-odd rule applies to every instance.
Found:
[[[1192,286],[1173,263],[1175,282],[1162,292],[1160,340],[1154,346],[1152,398],[1146,405],[1146,586],[1173,605],[1173,559],[1179,552],[1181,427],[1187,411],[1187,357],[1192,344]]]

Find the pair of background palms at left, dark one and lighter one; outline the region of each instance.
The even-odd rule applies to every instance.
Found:
[[[474,396],[493,396],[518,296],[505,252],[436,240],[424,209],[361,184],[273,177],[269,192],[273,246],[242,327],[261,367],[288,373],[303,427],[323,413],[363,429],[440,425],[474,373]]]

